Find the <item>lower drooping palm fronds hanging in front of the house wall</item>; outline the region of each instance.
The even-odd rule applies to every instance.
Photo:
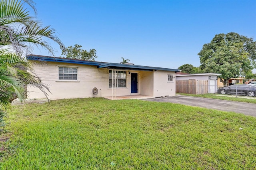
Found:
[[[48,98],[48,87],[32,71],[32,64],[18,53],[0,50],[0,110],[9,107],[10,99],[26,98],[26,86],[36,85]],[[45,91],[46,90],[46,91]]]

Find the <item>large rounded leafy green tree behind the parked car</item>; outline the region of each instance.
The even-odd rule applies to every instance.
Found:
[[[237,33],[217,34],[198,53],[204,72],[221,73],[224,85],[228,79],[246,75],[256,66],[256,42]]]

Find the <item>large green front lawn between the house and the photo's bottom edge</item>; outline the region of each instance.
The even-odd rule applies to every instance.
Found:
[[[8,115],[0,169],[256,169],[256,118],[242,114],[90,98]]]

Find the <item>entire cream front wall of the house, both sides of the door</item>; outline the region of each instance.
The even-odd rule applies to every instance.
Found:
[[[59,66],[78,67],[78,80],[59,81]],[[96,95],[96,97],[112,96],[112,88],[108,87],[108,70],[109,69],[105,68],[98,69],[93,65],[79,65],[57,62],[48,62],[47,64],[34,63],[34,72],[36,75],[38,75],[38,77],[42,79],[42,82],[50,88],[52,93],[48,93],[50,99],[93,97],[92,89],[94,87],[98,88],[98,95]],[[158,97],[165,95],[175,95],[175,83],[167,83],[168,71],[125,71],[127,71],[126,87],[117,88],[116,91],[114,91],[114,95],[116,93],[116,96],[141,94]],[[138,93],[131,93],[131,74],[129,74],[129,71],[130,73],[138,73]],[[154,80],[157,82],[154,82]],[[44,94],[34,85],[30,85],[27,89],[29,99],[46,98]]]

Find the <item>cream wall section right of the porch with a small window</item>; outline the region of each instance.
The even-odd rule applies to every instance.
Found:
[[[173,78],[173,82],[168,82],[168,74],[175,77],[175,73],[171,71],[154,71],[154,97],[175,95],[176,81]]]

